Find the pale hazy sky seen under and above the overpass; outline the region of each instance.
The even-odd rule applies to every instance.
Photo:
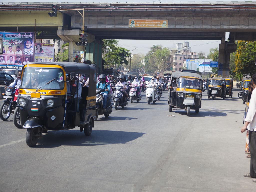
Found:
[[[47,0],[12,0],[12,1],[3,1],[3,0],[0,0],[0,2],[10,2],[10,3],[20,3],[20,2],[24,2],[24,3],[31,3],[31,2],[40,2],[40,3],[45,3],[45,2],[58,2],[58,1],[47,1]],[[188,1],[188,0],[177,0],[177,1],[167,1],[167,0],[159,0],[159,1],[148,1],[148,0],[120,0],[120,1],[116,1],[116,0],[88,0],[88,1],[81,1],[81,0],[70,0],[70,1],[67,1],[67,0],[63,0],[63,1],[59,1],[59,2],[218,2],[217,1]],[[219,1],[221,2],[221,1]],[[223,1],[223,2],[247,2],[247,3],[255,3],[255,1],[248,1],[248,0],[240,0],[240,1]],[[145,18],[146,19],[146,18]],[[228,38],[228,37],[226,37]],[[205,53],[206,55],[209,54],[209,50],[211,48],[216,48],[216,47],[219,47],[219,44],[220,44],[220,41],[195,41],[195,40],[119,40],[119,45],[121,47],[124,47],[128,50],[133,50],[133,53],[134,54],[138,54],[138,53],[142,53],[142,54],[146,54],[151,47],[153,47],[153,45],[162,45],[163,47],[174,47],[174,45],[176,45],[176,43],[183,43],[184,41],[188,41],[189,42],[189,46],[191,47],[191,50],[192,51],[196,51],[196,52],[200,52],[200,51],[203,51],[203,53]]]

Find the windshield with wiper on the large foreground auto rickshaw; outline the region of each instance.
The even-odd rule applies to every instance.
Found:
[[[55,80],[45,85],[53,79]],[[21,87],[23,89],[38,89],[40,87],[41,89],[63,89],[63,80],[63,71],[61,69],[25,68]]]

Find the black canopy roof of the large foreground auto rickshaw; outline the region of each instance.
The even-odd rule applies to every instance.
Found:
[[[66,73],[90,74],[91,71],[94,72],[96,70],[96,67],[94,65],[75,62],[31,62],[29,63],[29,65],[30,64],[58,65],[65,68]]]

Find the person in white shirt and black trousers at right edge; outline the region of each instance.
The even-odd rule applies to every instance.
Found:
[[[252,77],[252,85],[256,87],[256,75]],[[249,110],[241,132],[243,133],[247,129],[249,130],[251,165],[250,173],[244,175],[244,177],[251,177],[253,178],[253,182],[256,183],[256,89],[252,91]]]

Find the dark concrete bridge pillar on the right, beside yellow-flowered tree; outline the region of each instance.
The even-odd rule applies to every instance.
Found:
[[[222,37],[221,44],[219,45],[219,69],[218,76],[229,78],[229,61],[230,54],[237,50],[237,45],[235,44],[234,39],[226,41],[225,37]]]

